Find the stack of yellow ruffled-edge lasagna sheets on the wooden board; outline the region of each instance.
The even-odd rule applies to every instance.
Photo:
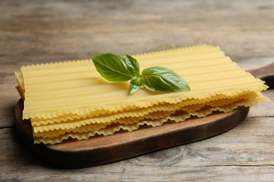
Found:
[[[220,48],[196,45],[133,55],[141,71],[164,66],[182,76],[191,91],[159,94],[141,87],[129,95],[129,82],[110,83],[91,59],[22,66],[15,72],[24,100],[22,119],[30,119],[34,144],[89,139],[141,125],[160,127],[214,111],[269,101],[268,86],[241,69]]]

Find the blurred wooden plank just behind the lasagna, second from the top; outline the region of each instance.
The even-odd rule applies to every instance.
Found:
[[[228,36],[229,34],[229,36]],[[260,38],[256,38],[261,34]],[[40,56],[65,55],[87,59],[104,52],[115,52],[124,55],[152,52],[171,48],[171,45],[183,47],[188,45],[219,45],[235,62],[254,57],[273,57],[273,45],[269,37],[273,31],[133,31],[108,32],[107,34],[74,33],[74,34],[34,34],[2,35],[0,41],[1,55],[7,56]],[[126,39],[125,39],[126,37]],[[220,37],[222,37],[220,39]],[[111,40],[111,41],[108,41]],[[124,40],[124,41],[122,41]],[[18,43],[20,42],[20,43]],[[234,47],[233,44],[237,43]],[[256,44],[256,47],[252,48]],[[5,45],[5,46],[4,46]],[[244,53],[244,55],[243,55]],[[88,55],[88,56],[86,56]],[[72,59],[67,57],[67,59]],[[269,59],[269,58],[268,58]],[[52,60],[54,62],[56,60]],[[270,63],[272,60],[268,60]],[[263,66],[263,65],[262,65]]]

